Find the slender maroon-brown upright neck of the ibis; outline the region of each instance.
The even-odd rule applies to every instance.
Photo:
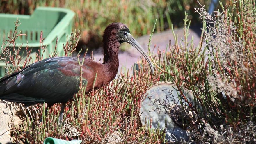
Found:
[[[107,40],[103,44],[104,49],[104,66],[107,72],[111,75],[112,79],[115,78],[118,67],[118,50],[120,47],[120,42],[117,40]]]

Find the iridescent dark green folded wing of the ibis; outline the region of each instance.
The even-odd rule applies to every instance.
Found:
[[[86,77],[93,77],[94,71],[88,66],[83,71],[86,83]],[[49,58],[0,79],[0,99],[27,105],[67,102],[79,90],[79,80],[77,58]]]

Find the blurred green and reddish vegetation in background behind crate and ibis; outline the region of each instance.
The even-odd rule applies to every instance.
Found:
[[[211,0],[199,0],[209,9]],[[224,3],[226,0],[221,0]],[[0,0],[0,13],[30,15],[38,6],[62,7],[73,10],[74,29],[82,31],[77,47],[93,48],[102,46],[102,34],[112,22],[125,23],[137,37],[149,34],[157,19],[156,31],[183,26],[184,11],[191,20],[191,26],[201,26],[194,7],[196,0]],[[218,9],[218,5],[215,9]]]

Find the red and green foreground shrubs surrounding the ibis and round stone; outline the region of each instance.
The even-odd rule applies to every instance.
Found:
[[[182,42],[175,36],[168,51],[150,55],[157,68],[154,76],[148,73],[143,60],[137,75],[121,73],[95,93],[84,94],[82,86],[74,101],[67,104],[65,124],[61,127],[56,124],[58,104],[49,110],[42,123],[37,121],[45,106],[44,109],[39,109],[42,104],[26,109],[23,123],[13,127],[13,138],[24,143],[40,143],[47,136],[79,138],[83,143],[115,140],[120,143],[162,143],[165,134],[161,130],[150,129],[150,124],[141,125],[139,108],[149,86],[157,81],[169,81],[181,93],[183,87],[193,92],[194,103],[180,95],[186,103],[177,112],[178,117],[187,119],[184,128],[191,132],[190,142],[255,143],[255,10],[255,1],[250,0],[231,1],[227,6],[221,4],[221,10],[214,12],[214,16],[203,6],[196,8],[203,20],[200,42],[195,45],[193,40],[188,41],[190,22],[185,14]],[[17,35],[14,34],[3,48],[7,45],[13,48],[12,42]],[[76,38],[72,43],[76,44],[79,34],[73,37]],[[68,49],[73,48],[70,45]],[[8,52],[6,54],[8,57]],[[19,56],[10,63],[17,60]]]

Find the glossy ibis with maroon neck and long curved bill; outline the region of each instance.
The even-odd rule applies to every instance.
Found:
[[[120,44],[128,42],[147,60],[151,73],[153,66],[143,48],[132,37],[125,24],[112,23],[104,31],[104,62],[97,63],[85,59],[83,82],[87,82],[86,93],[93,88],[95,74],[97,78],[94,89],[101,88],[112,81],[118,71],[118,49]],[[0,79],[0,99],[23,103],[25,106],[47,103],[51,107],[61,103],[62,120],[65,104],[79,91],[80,65],[75,57],[53,57],[38,61]],[[45,113],[46,114],[46,113]]]

